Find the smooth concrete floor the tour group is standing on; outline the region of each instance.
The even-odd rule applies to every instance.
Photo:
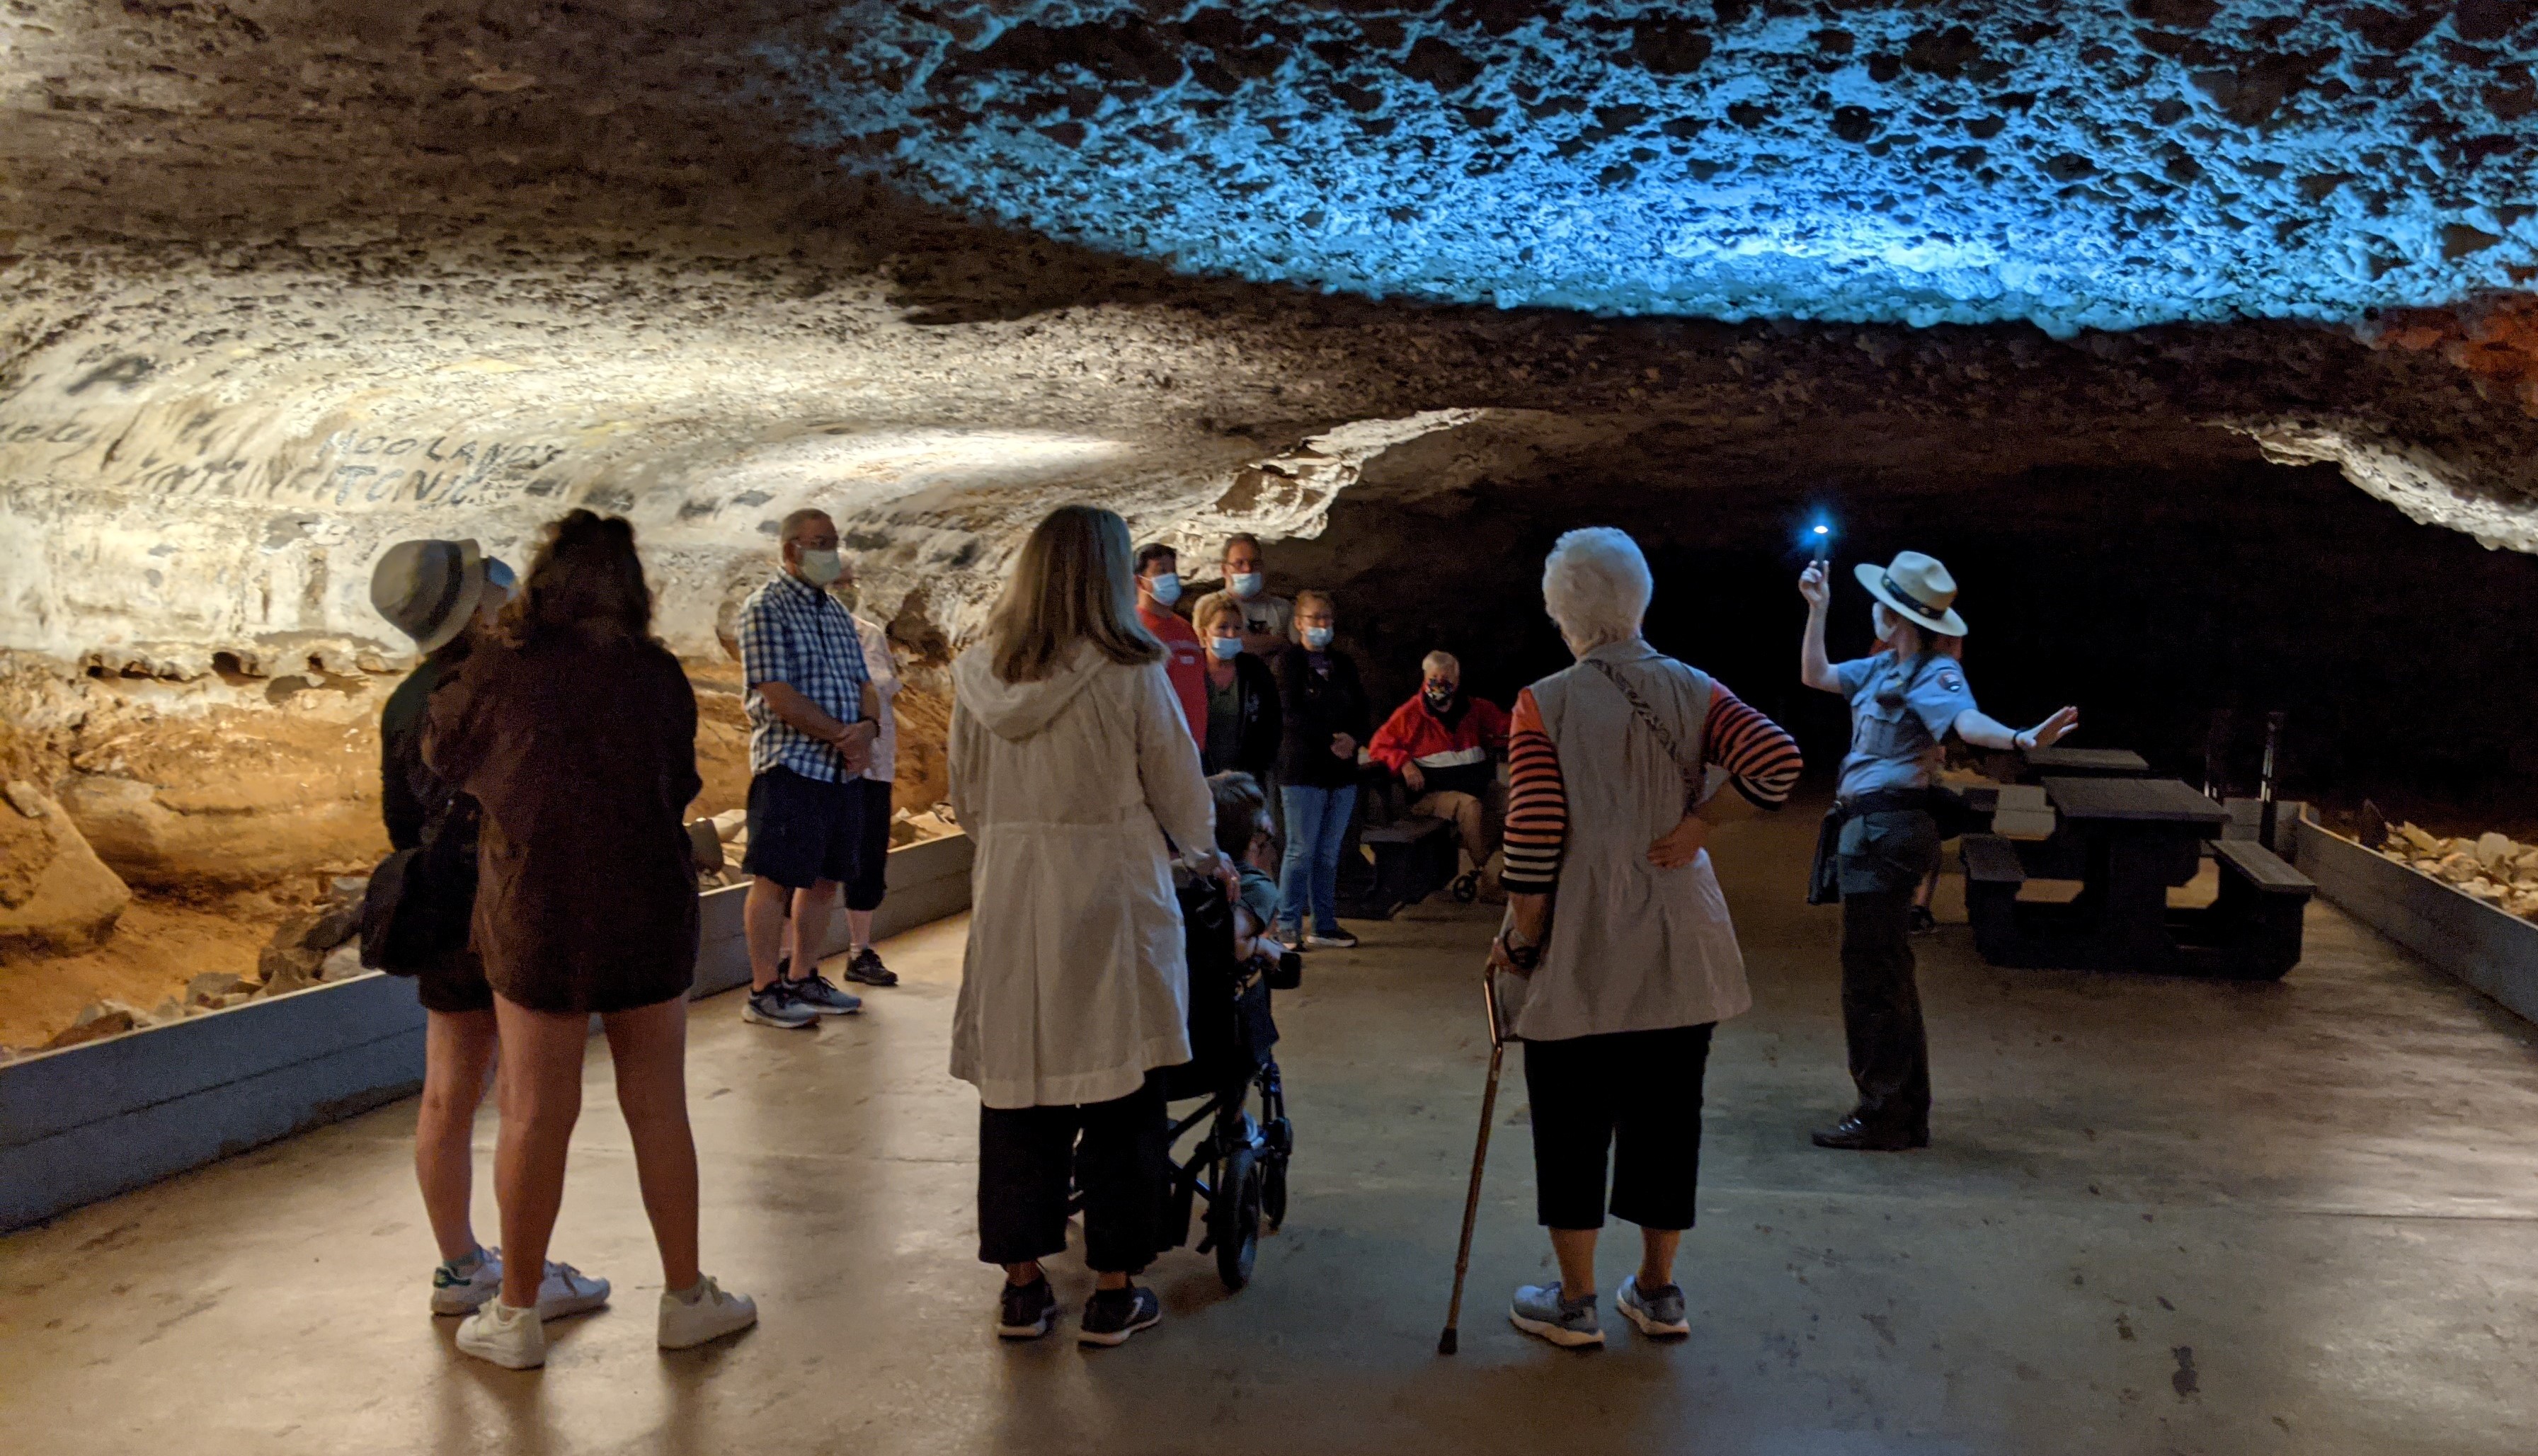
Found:
[[[543,1375],[454,1355],[411,1103],[0,1240],[10,1451],[1749,1451],[2538,1448],[2538,1035],[2332,908],[2277,987],[2000,972],[1924,951],[1926,1154],[1807,1147],[1845,1108],[1812,819],[1718,862],[1756,1010],[1711,1063],[1688,1342],[1505,1324],[1546,1268],[1510,1068],[1464,1344],[1434,1355],[1480,1103],[1487,921],[1360,926],[1279,999],[1289,1225],[1226,1296],[1167,1256],[1160,1329],[1000,1347],[972,1261],[975,1098],[944,1043],[959,923],[820,1032],[698,1007],[706,1266],[764,1324],[660,1355],[660,1273],[594,1045],[556,1251],[619,1309]],[[485,1114],[485,1144],[492,1114]],[[480,1180],[482,1233],[492,1200]],[[1622,1230],[1627,1235],[1627,1230]],[[1607,1245],[1604,1284],[1629,1268]],[[1089,1276],[1071,1258],[1061,1294]],[[1619,1324],[1619,1322],[1614,1322]]]

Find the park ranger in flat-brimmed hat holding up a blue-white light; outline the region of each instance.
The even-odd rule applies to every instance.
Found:
[[[1939,865],[1931,807],[1944,741],[1957,733],[1975,748],[2051,748],[2079,725],[2079,708],[2023,731],[1987,718],[1975,708],[1964,667],[1934,642],[1964,637],[1957,578],[1919,550],[1855,571],[1876,599],[1878,652],[1850,662],[1825,657],[1832,599],[1825,566],[1797,578],[1807,599],[1799,680],[1850,700],[1850,756],[1815,850],[1807,900],[1843,900],[1843,1035],[1860,1101],[1817,1131],[1815,1147],[1896,1152],[1929,1147],[1929,1037],[1909,926],[1914,888]]]

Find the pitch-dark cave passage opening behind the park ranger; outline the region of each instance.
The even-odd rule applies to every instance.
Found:
[[[1472,692],[1515,692],[1568,662],[1541,604],[1558,533],[1619,525],[1657,581],[1647,637],[1787,723],[1830,791],[1845,705],[1797,682],[1807,523],[1838,523],[1830,647],[1871,652],[1858,561],[1926,550],[1959,581],[1967,675],[2025,725],[2081,708],[2074,746],[2140,751],[2195,786],[2216,710],[2228,786],[2254,794],[2264,715],[2287,713],[2282,794],[2457,832],[2538,827],[2538,561],[2419,525],[2335,467],[2254,446],[2190,464],[2043,464],[2005,477],[1949,462],[1860,477],[1741,479],[1647,454],[1571,457],[1452,492],[1343,492],[1315,540],[1274,545],[1282,591],[1340,601],[1378,713],[1454,652]],[[1708,484],[1703,484],[1708,482]]]

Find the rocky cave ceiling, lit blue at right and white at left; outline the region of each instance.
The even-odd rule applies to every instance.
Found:
[[[1074,497],[2261,457],[2538,550],[2533,15],[8,0],[0,647],[350,665],[569,505],[700,654],[805,502],[954,637]]]

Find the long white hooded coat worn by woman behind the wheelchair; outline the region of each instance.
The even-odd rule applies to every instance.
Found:
[[[952,665],[952,807],[977,847],[952,1076],[992,1108],[1122,1098],[1190,1060],[1173,850],[1216,845],[1162,662],[1076,644],[1041,682]]]

